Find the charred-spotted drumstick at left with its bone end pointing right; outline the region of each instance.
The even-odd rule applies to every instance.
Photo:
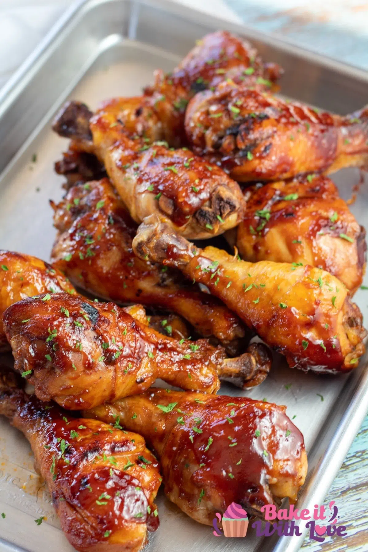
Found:
[[[47,294],[8,307],[4,328],[15,369],[29,378],[36,396],[64,408],[92,408],[141,393],[161,378],[183,389],[213,393],[218,376],[257,385],[270,368],[257,346],[238,358],[206,339],[180,342],[133,319],[114,303]],[[250,346],[252,347],[252,346]]]

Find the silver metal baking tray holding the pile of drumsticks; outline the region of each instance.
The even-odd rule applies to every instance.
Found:
[[[240,25],[163,0],[89,0],[74,4],[17,75],[0,91],[0,247],[49,258],[54,229],[49,198],[61,198],[61,178],[53,170],[67,142],[51,132],[50,121],[67,98],[94,108],[114,95],[140,93],[154,68],[170,70],[195,39],[228,29],[254,42],[265,60],[285,68],[282,93],[338,113],[366,102],[368,75],[262,35]],[[36,162],[33,156],[36,154]],[[356,169],[335,175],[343,197],[359,182]],[[351,206],[367,223],[368,187]],[[367,283],[367,279],[366,279]],[[368,293],[355,296],[365,319]],[[307,482],[297,507],[322,503],[368,410],[368,359],[348,376],[303,374],[281,358],[262,385],[247,392],[255,399],[287,405],[287,413],[305,436],[309,458]],[[291,384],[291,385],[290,385]],[[285,387],[286,386],[286,387]],[[221,392],[241,394],[230,386]],[[318,394],[323,396],[323,401]],[[245,394],[245,393],[244,393]],[[67,552],[51,498],[33,469],[23,436],[0,420],[0,550]],[[216,539],[212,529],[192,521],[158,497],[161,527],[150,535],[147,552],[295,552],[302,537]],[[46,516],[40,527],[34,519]],[[340,523],[349,520],[340,520]]]

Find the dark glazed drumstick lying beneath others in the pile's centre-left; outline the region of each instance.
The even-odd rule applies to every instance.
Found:
[[[221,342],[244,337],[242,322],[225,305],[174,270],[136,257],[137,225],[108,181],[74,185],[57,205],[51,259],[71,281],[100,298],[172,310],[200,335]]]

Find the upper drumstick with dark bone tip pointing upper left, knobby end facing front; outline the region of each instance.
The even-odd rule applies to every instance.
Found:
[[[120,110],[118,99],[105,102],[90,116],[90,137],[79,139],[77,123],[70,120],[82,115],[70,102],[57,115],[54,129],[66,121],[74,132],[70,137],[77,137],[72,150],[94,153],[104,163],[132,219],[140,223],[145,216],[159,213],[190,239],[216,236],[238,224],[242,193],[236,182],[187,149],[131,139],[121,124]]]

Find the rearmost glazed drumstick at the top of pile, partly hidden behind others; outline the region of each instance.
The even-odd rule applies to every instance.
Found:
[[[228,77],[248,86],[269,89],[274,87],[281,72],[275,63],[264,63],[252,45],[220,31],[198,41],[172,73],[156,71],[153,86],[147,87],[143,95],[117,98],[111,100],[111,104],[115,105],[118,120],[131,136],[145,138],[148,142],[166,140],[170,146],[179,147],[187,142],[185,108],[196,92]],[[74,130],[79,129],[79,137],[88,134],[85,121],[85,118],[78,118],[78,124],[74,124]],[[70,120],[64,117],[57,131],[62,136],[72,137],[69,127]]]

